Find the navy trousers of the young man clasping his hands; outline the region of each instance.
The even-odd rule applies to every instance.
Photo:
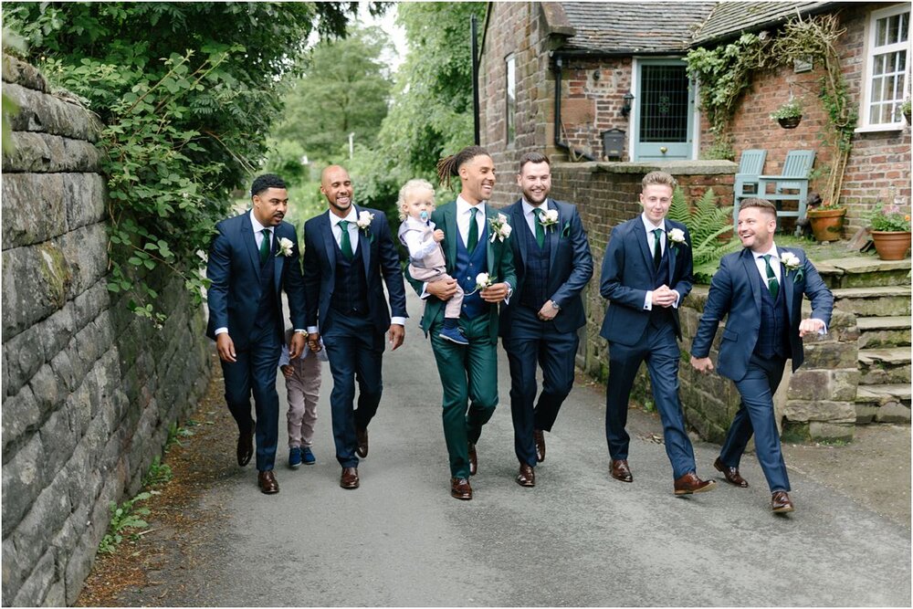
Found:
[[[663,422],[666,456],[674,478],[695,471],[694,449],[685,431],[685,415],[678,400],[679,351],[671,323],[648,324],[635,345],[609,342],[609,380],[605,388],[605,438],[614,460],[627,459],[630,436],[627,425],[628,398],[637,369],[646,362],[653,387],[653,401]]]

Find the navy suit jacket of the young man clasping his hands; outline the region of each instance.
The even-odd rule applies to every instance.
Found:
[[[667,233],[679,228],[685,233],[687,245],[672,243]],[[603,271],[599,293],[609,299],[603,328],[599,335],[605,340],[634,345],[644,335],[650,321],[650,311],[644,309],[646,292],[654,289],[653,255],[647,243],[646,230],[641,216],[615,226],[605,247]],[[666,218],[666,251],[668,252],[668,277],[666,284],[681,297],[678,305],[691,291],[693,264],[691,260],[691,235],[687,227]],[[670,307],[676,336],[682,337],[678,310]]]

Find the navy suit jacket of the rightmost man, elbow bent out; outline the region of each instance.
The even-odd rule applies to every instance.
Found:
[[[799,257],[801,267],[787,270],[781,267],[781,288],[789,312],[789,341],[792,352],[792,371],[795,372],[805,359],[802,339],[799,338],[799,322],[802,320],[803,294],[812,300],[812,317],[831,322],[834,296],[827,289],[818,271],[797,247],[778,247],[782,256],[791,252]],[[800,272],[801,270],[801,272]],[[740,381],[748,371],[751,353],[754,352],[761,331],[761,288],[758,282],[758,267],[749,248],[724,256],[719,270],[710,282],[710,293],[704,314],[698,323],[698,331],[691,343],[691,355],[707,357],[710,345],[717,333],[719,320],[726,319],[722,340],[719,342],[719,373],[733,381]]]

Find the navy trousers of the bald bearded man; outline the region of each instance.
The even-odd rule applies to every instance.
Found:
[[[323,344],[330,360],[333,390],[330,411],[336,460],[342,467],[358,467],[355,428],[367,429],[381,403],[383,333],[366,317],[330,312],[323,324]],[[358,409],[355,381],[358,381]]]

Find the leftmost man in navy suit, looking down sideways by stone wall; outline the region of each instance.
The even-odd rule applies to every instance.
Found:
[[[254,452],[257,412],[257,483],[267,494],[278,493],[273,475],[278,442],[279,402],[276,366],[284,342],[281,290],[289,296],[294,337],[289,356],[305,345],[305,295],[301,281],[298,236],[283,222],[289,208],[286,184],[277,175],[261,175],[250,188],[252,209],[218,223],[209,250],[206,277],[209,325],[222,360],[226,402],[238,428],[237,464],[246,466]]]

